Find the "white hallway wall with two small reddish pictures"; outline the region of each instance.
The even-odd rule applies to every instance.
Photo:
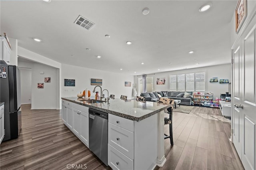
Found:
[[[18,62],[18,67],[21,70],[23,68],[31,68],[31,109],[59,109],[59,69],[40,63],[27,62]],[[40,74],[41,71],[44,74]],[[44,77],[51,77],[51,82],[44,83]],[[38,89],[37,83],[44,83],[44,89]],[[24,88],[22,88],[22,98],[26,98],[27,96],[24,95],[23,90]]]

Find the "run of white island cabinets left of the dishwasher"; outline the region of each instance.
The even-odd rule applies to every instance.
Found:
[[[89,147],[89,108],[62,100],[62,121]]]

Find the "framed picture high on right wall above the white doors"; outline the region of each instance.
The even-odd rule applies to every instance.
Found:
[[[236,5],[236,33],[241,28],[247,16],[247,0],[239,0]]]

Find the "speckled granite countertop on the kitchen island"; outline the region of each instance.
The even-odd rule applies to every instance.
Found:
[[[136,100],[110,99],[109,103],[86,103],[79,101],[82,98],[77,97],[62,97],[62,99],[133,121],[141,121],[170,107],[170,105],[157,105],[156,102],[142,103]]]

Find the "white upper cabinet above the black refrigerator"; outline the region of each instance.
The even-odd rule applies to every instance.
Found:
[[[4,60],[6,64],[10,64],[11,49],[4,37],[0,37],[0,60]]]

